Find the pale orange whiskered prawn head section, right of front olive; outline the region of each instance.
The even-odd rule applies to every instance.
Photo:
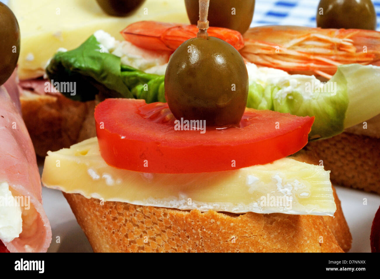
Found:
[[[380,64],[380,32],[262,26],[244,34],[242,56],[258,66],[326,78],[342,64]]]

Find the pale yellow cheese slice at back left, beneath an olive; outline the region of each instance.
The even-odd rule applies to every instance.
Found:
[[[21,31],[21,80],[42,76],[57,49],[77,48],[96,30],[123,40],[120,31],[136,21],[189,23],[184,1],[179,0],[146,0],[127,17],[109,16],[95,0],[9,0],[8,6]]]

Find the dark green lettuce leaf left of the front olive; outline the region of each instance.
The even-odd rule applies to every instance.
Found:
[[[75,94],[61,92],[73,100],[93,100],[99,92],[106,98],[165,100],[164,76],[122,65],[120,57],[102,52],[93,35],[76,49],[56,53],[46,73],[54,83],[76,82]]]

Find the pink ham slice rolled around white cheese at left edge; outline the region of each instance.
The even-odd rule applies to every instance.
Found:
[[[9,81],[9,80],[8,80]],[[32,140],[22,120],[17,99],[17,84],[9,81],[0,86],[0,182],[7,182],[13,193],[30,196],[31,224],[24,222],[22,233],[5,242],[10,252],[46,252],[51,242],[51,227],[42,207],[41,179]],[[10,91],[8,92],[7,89]]]

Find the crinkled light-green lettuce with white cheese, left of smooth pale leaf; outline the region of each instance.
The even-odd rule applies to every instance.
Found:
[[[287,78],[296,79],[297,76]],[[337,81],[338,80],[338,81]],[[340,73],[334,75],[329,81],[336,88],[325,86],[313,91],[313,82],[300,80],[304,86],[298,90],[289,91],[289,84],[270,83],[263,88],[260,84],[252,83],[249,86],[247,107],[256,109],[269,109],[276,112],[290,113],[298,116],[315,116],[309,139],[332,137],[344,130],[344,118],[348,105],[346,81]],[[309,86],[309,88],[307,88]]]

